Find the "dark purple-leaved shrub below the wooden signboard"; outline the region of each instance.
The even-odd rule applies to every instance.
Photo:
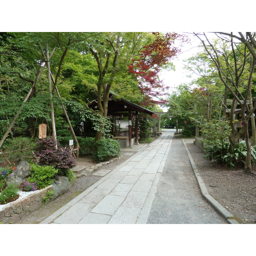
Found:
[[[38,140],[37,144],[36,156],[40,157],[39,165],[53,166],[60,170],[59,173],[61,175],[64,175],[68,169],[76,166],[76,160],[70,154],[70,148],[61,147],[58,141],[56,144],[53,137]],[[58,148],[55,148],[55,145]]]

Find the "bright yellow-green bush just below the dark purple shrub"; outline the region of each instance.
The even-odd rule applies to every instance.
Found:
[[[55,174],[60,170],[52,166],[40,166],[37,163],[31,163],[31,173],[27,178],[30,183],[36,182],[38,189],[43,189],[55,180]]]

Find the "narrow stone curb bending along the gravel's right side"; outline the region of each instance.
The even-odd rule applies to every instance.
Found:
[[[207,191],[207,188],[206,186],[204,185],[204,182],[198,172],[198,169],[197,167],[195,166],[195,162],[189,152],[189,149],[187,148],[186,146],[186,143],[185,141],[182,139],[183,141],[183,144],[186,148],[186,151],[187,151],[187,154],[189,156],[189,161],[190,161],[190,164],[192,166],[192,169],[194,171],[194,174],[195,174],[195,177],[197,179],[197,182],[198,182],[198,186],[201,190],[201,194],[203,195],[203,197],[209,202],[209,204],[212,205],[212,207],[214,207],[214,209],[223,217],[225,218],[230,224],[239,224],[239,222],[237,222],[234,218],[234,216],[229,212],[227,211],[227,209],[225,209],[221,204],[219,204],[214,198],[212,198],[211,195],[209,195],[208,191]]]

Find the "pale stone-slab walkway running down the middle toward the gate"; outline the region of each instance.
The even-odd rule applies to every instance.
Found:
[[[143,147],[41,224],[146,224],[172,138],[163,134]]]

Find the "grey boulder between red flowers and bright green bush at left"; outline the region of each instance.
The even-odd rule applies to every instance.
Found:
[[[7,177],[7,184],[15,183],[17,187],[20,187],[21,183],[29,177],[30,172],[29,163],[26,161],[20,161],[15,170]]]

